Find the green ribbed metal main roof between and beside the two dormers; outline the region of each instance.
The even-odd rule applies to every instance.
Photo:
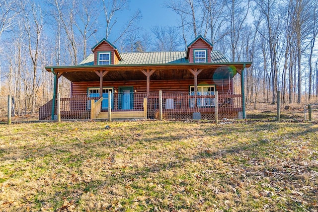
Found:
[[[189,63],[186,52],[133,52],[120,53],[122,61],[118,65],[151,65]],[[229,63],[220,51],[211,52],[211,63]],[[94,54],[90,54],[79,65],[94,65]]]

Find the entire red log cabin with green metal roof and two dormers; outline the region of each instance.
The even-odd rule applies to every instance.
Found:
[[[71,81],[70,97],[60,100],[62,119],[108,118],[110,111],[113,118],[156,119],[160,108],[167,119],[214,119],[215,107],[219,118],[245,118],[243,71],[251,63],[230,63],[202,36],[185,52],[120,53],[106,39],[91,50],[78,66],[45,67],[54,74],[54,94],[40,120],[55,118],[61,76]]]

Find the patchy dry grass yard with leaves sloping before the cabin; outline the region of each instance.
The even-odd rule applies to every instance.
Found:
[[[317,210],[317,124],[0,125],[0,211]]]

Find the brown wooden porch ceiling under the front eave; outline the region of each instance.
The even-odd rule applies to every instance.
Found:
[[[250,63],[246,63],[245,67],[250,67]],[[232,67],[229,69],[228,67]],[[243,68],[242,63],[227,64],[191,64],[191,65],[173,65],[173,66],[73,66],[73,67],[45,67],[47,71],[61,73],[71,82],[79,81],[99,81],[99,76],[95,71],[108,71],[103,81],[117,80],[146,80],[146,75],[142,70],[156,70],[150,77],[153,80],[165,79],[193,79],[193,74],[188,69],[201,69],[198,74],[199,79],[208,79],[213,77],[229,78],[233,77],[236,72],[240,73]],[[229,74],[229,71],[235,73]]]

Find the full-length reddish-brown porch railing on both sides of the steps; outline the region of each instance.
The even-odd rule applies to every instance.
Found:
[[[125,99],[126,98],[126,99]],[[147,99],[145,104],[144,99]],[[90,119],[91,100],[99,97],[88,97],[87,94],[61,98],[61,119]],[[159,92],[134,92],[124,96],[123,93],[111,95],[112,112],[125,111],[126,114],[147,111],[148,119],[159,119]],[[108,97],[103,98],[108,102]],[[57,105],[57,104],[56,104]],[[100,112],[107,112],[106,104],[101,104]],[[107,104],[108,105],[108,104]],[[145,110],[145,105],[147,108]],[[192,119],[193,113],[200,113],[201,119],[214,119],[214,95],[189,95],[184,92],[162,92],[162,115],[165,119]],[[240,118],[242,96],[240,94],[218,95],[218,118]],[[52,100],[40,108],[40,119],[51,119]],[[99,112],[99,111],[98,111]]]

